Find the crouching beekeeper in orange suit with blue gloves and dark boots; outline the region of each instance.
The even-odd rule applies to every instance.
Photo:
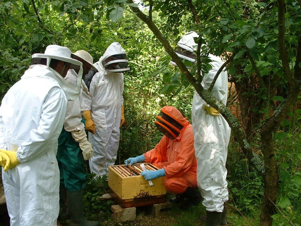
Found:
[[[171,202],[188,201],[182,209],[195,206],[200,202],[201,195],[197,190],[197,160],[194,154],[194,136],[192,126],[178,109],[171,106],[161,108],[155,124],[164,134],[156,147],[143,155],[125,160],[126,165],[140,162],[151,162],[160,168],[156,171],[143,171],[145,180],[153,180],[166,176],[166,189],[177,194]]]

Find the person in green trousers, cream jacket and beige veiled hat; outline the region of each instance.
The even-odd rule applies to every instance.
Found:
[[[93,66],[92,56],[85,50],[71,53],[73,59],[82,62],[83,76],[89,70],[98,72]],[[78,71],[70,69],[66,79],[73,82]],[[83,81],[82,81],[83,83]],[[83,86],[83,84],[82,84]],[[81,86],[81,87],[82,87]],[[64,127],[58,138],[57,162],[60,169],[60,217],[69,218],[70,226],[98,226],[98,221],[88,221],[83,212],[83,188],[86,184],[85,160],[93,156],[91,143],[85,133],[81,115],[83,88],[79,96],[67,102]],[[67,204],[67,205],[66,205]]]

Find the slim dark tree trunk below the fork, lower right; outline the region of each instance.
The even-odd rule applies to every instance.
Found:
[[[263,175],[264,194],[260,216],[260,226],[272,225],[272,215],[276,213],[275,203],[278,191],[278,172],[274,152],[274,136],[272,132],[261,130],[262,153],[265,163]]]

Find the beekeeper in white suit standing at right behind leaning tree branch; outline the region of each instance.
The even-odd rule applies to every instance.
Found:
[[[195,62],[197,44],[195,32],[188,33],[177,43],[175,52],[180,58]],[[222,66],[221,58],[209,54],[212,69],[203,76],[201,85],[209,89],[213,78]],[[171,61],[172,64],[176,65]],[[227,102],[228,76],[222,71],[211,91],[212,95],[223,104]],[[197,158],[197,181],[206,207],[206,226],[225,225],[228,201],[227,190],[227,149],[231,129],[216,109],[208,105],[196,91],[192,102],[192,127],[194,132],[194,148]]]

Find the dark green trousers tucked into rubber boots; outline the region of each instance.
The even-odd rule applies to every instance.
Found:
[[[85,187],[87,174],[82,150],[71,132],[64,128],[58,138],[57,163],[60,169],[60,183],[67,190],[77,191]]]

